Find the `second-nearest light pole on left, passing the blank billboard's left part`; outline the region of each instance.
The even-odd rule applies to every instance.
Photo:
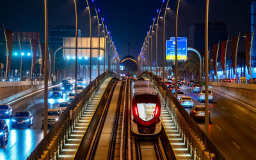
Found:
[[[77,35],[78,35],[78,27],[77,27],[77,7],[76,7],[76,0],[74,0],[74,5],[75,5],[75,11],[76,11],[76,60],[75,60],[75,99],[77,97]],[[91,45],[92,47],[92,45]],[[54,66],[55,67],[55,66]]]

